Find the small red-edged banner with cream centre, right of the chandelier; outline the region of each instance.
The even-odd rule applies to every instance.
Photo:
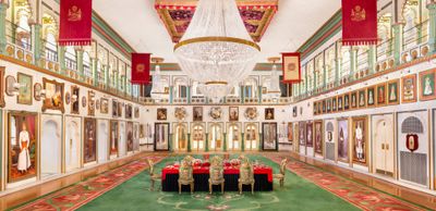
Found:
[[[299,52],[282,53],[282,69],[284,84],[300,83],[301,80],[301,61]]]

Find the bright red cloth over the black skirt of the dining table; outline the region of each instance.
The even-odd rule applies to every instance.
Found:
[[[254,166],[254,174],[267,174],[268,182],[272,183],[272,167],[269,166]],[[179,174],[179,165],[169,165],[162,169],[162,181],[166,179],[167,174]],[[209,166],[194,166],[193,174],[209,174]],[[239,166],[225,166],[225,174],[239,174]]]

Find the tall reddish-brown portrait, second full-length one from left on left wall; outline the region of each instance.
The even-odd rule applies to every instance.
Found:
[[[92,117],[84,120],[83,162],[97,161],[97,121]]]

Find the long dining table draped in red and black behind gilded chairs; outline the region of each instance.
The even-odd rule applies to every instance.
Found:
[[[239,165],[225,163],[225,190],[238,191]],[[254,172],[254,190],[255,191],[271,191],[272,190],[272,167],[256,164],[253,165]],[[209,163],[196,164],[193,166],[194,190],[209,190]],[[179,164],[170,164],[162,169],[162,191],[179,191]],[[214,186],[214,191],[219,191],[220,186]],[[243,186],[244,191],[251,191],[251,186]],[[182,191],[190,191],[189,186],[182,186]]]

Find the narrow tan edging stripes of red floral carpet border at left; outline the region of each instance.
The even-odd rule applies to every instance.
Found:
[[[14,210],[14,211],[17,210],[17,211],[20,211],[20,210],[25,210],[25,209],[27,209],[27,208],[32,208],[33,206],[35,206],[35,204],[37,204],[37,203],[39,203],[39,202],[44,202],[44,201],[47,200],[47,199],[55,198],[55,197],[57,197],[57,196],[60,196],[62,193],[65,193],[65,191],[69,191],[69,190],[71,190],[71,189],[75,188],[75,186],[77,186],[77,185],[80,185],[80,184],[82,184],[82,183],[87,183],[87,182],[90,182],[92,179],[97,179],[98,177],[100,177],[100,176],[104,175],[104,174],[108,174],[108,173],[110,173],[110,172],[118,171],[118,170],[120,170],[120,169],[122,169],[122,167],[125,167],[125,166],[128,166],[128,165],[135,164],[135,163],[137,163],[137,162],[144,162],[144,160],[147,159],[147,158],[157,158],[157,160],[155,160],[155,163],[159,163],[159,162],[161,162],[164,159],[168,158],[168,154],[144,154],[144,157],[142,157],[142,158],[137,159],[137,160],[134,160],[134,161],[128,162],[128,163],[125,163],[125,164],[123,164],[123,165],[120,165],[120,166],[118,166],[118,167],[114,167],[114,169],[105,171],[105,172],[102,172],[102,173],[100,173],[100,174],[98,174],[98,175],[95,175],[95,176],[92,176],[92,177],[87,177],[87,178],[85,178],[85,179],[83,179],[83,181],[80,181],[80,182],[76,182],[76,183],[74,183],[74,184],[71,184],[71,185],[69,185],[69,186],[66,186],[66,187],[63,187],[63,188],[53,190],[53,191],[51,191],[51,193],[49,193],[49,194],[46,194],[46,195],[44,195],[44,196],[40,196],[40,197],[38,197],[38,198],[36,198],[36,199],[33,199],[33,200],[29,200],[29,201],[27,201],[27,202],[21,203],[21,204],[19,204],[19,206],[15,206],[15,207],[13,207],[13,208],[8,209],[8,210]],[[136,172],[132,173],[131,175],[129,175],[129,176],[126,176],[126,177],[120,179],[119,182],[117,182],[117,183],[114,183],[114,184],[108,186],[107,188],[105,188],[105,189],[101,190],[100,193],[98,193],[98,194],[96,194],[96,195],[93,195],[92,197],[88,197],[86,200],[83,200],[83,201],[81,201],[81,202],[74,204],[73,207],[71,207],[71,208],[68,209],[68,210],[76,210],[76,209],[78,209],[78,208],[85,206],[86,203],[93,201],[94,199],[100,197],[101,195],[104,195],[104,194],[106,194],[106,193],[112,190],[113,188],[118,187],[119,185],[121,185],[121,184],[125,183],[126,181],[131,179],[132,177],[138,175],[140,173],[142,173],[143,171],[147,170],[148,167],[149,167],[148,164],[145,165],[145,166],[142,167],[141,170],[137,170]]]

